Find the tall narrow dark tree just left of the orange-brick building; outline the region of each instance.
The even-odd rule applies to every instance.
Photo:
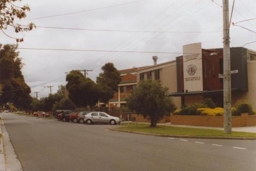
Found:
[[[106,63],[101,67],[102,72],[97,77],[97,86],[99,90],[100,100],[107,103],[113,98],[118,90],[118,84],[121,76],[113,63]]]

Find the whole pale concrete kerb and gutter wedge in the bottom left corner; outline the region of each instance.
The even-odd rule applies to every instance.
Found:
[[[0,115],[2,118],[2,115]],[[2,134],[1,137],[1,144],[0,144],[0,170],[15,170],[15,171],[22,171],[22,166],[20,160],[18,159],[12,143],[9,138],[9,134],[5,129],[4,122],[1,119],[1,128],[0,133]]]

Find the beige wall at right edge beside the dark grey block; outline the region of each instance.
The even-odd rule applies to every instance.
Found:
[[[232,94],[232,106],[237,101],[247,101],[252,105],[253,110],[256,110],[256,61],[247,62],[247,73],[248,73],[248,92],[239,92]]]

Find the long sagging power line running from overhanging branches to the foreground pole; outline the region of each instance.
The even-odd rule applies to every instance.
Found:
[[[26,25],[20,25],[26,26]],[[142,32],[142,33],[212,33],[221,31],[149,31],[149,30],[108,30],[108,29],[82,29],[82,28],[67,28],[67,27],[49,27],[49,26],[36,26],[37,28],[46,29],[64,29],[64,30],[86,30],[86,31],[107,31],[107,32]]]

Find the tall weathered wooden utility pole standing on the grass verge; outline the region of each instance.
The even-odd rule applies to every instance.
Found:
[[[228,0],[223,4],[223,105],[224,105],[224,133],[231,134],[231,72],[229,46],[229,8]]]

